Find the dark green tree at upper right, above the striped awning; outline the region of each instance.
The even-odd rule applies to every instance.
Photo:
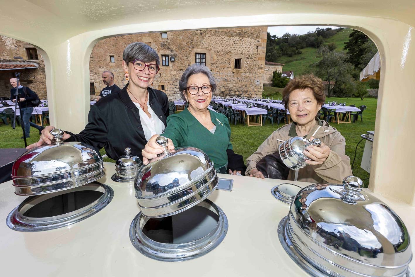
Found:
[[[365,68],[378,51],[372,40],[357,30],[349,35],[349,41],[345,43],[344,49],[347,50],[349,62],[359,71]]]

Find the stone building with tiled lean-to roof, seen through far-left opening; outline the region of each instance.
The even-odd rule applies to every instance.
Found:
[[[0,97],[10,97],[10,78],[16,72],[20,72],[22,86],[28,86],[40,99],[46,100],[45,64],[41,54],[32,44],[0,36]]]

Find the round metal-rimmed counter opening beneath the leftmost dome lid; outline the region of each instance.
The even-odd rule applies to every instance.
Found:
[[[7,216],[9,228],[23,232],[44,231],[76,223],[111,202],[114,191],[93,182],[55,193],[29,196]]]

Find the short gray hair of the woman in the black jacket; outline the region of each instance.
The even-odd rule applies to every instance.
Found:
[[[126,63],[138,59],[145,63],[156,61],[156,64],[160,65],[159,54],[144,42],[133,42],[128,44],[127,47],[125,47],[124,52],[122,52],[122,59]]]

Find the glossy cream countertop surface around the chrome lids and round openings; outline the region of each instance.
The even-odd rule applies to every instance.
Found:
[[[308,276],[278,239],[278,223],[288,215],[289,205],[275,199],[271,188],[286,181],[219,174],[234,179],[232,191],[215,190],[209,197],[227,216],[225,239],[194,260],[161,262],[142,255],[130,241],[130,224],[140,211],[134,183],[112,181],[114,164],[104,166],[105,176],[98,181],[114,190],[112,201],[93,216],[54,230],[18,232],[8,228],[7,214],[25,197],[14,194],[12,181],[0,184],[2,276]],[[391,197],[375,196],[393,208],[415,238],[415,208]],[[414,251],[414,244],[412,248]],[[409,266],[414,269],[415,262]]]

